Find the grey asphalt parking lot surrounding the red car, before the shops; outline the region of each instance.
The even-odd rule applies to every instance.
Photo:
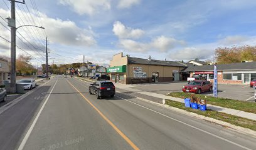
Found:
[[[132,88],[142,91],[168,94],[174,92],[182,92],[182,87],[186,82],[172,83],[151,83],[151,84],[134,84]],[[213,96],[212,92],[201,93]],[[254,89],[246,84],[218,84],[218,97],[237,99],[240,101],[254,101]]]

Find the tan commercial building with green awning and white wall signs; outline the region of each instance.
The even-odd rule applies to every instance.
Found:
[[[148,59],[132,58],[119,53],[113,56],[107,73],[115,83],[152,83],[179,81],[182,78],[179,72],[184,68],[186,64],[175,61],[159,61],[150,56]]]

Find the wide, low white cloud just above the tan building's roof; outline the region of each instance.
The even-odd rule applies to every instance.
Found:
[[[174,47],[184,44],[184,41],[178,41],[174,38],[159,36],[152,39],[151,42],[143,43],[133,41],[131,39],[120,39],[119,46],[128,51],[145,52],[156,50],[159,52],[167,52]]]

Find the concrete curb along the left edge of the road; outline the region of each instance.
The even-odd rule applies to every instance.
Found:
[[[19,101],[21,101],[22,99],[26,98],[26,96],[29,96],[31,93],[35,92],[37,89],[41,88],[41,86],[49,83],[50,80],[40,86],[38,86],[38,88],[36,88],[35,90],[31,90],[28,91],[27,93],[23,94],[22,96],[19,96],[19,98],[13,99],[13,101],[5,104],[4,106],[1,106],[0,108],[0,114],[4,113],[4,111],[8,110],[9,108],[11,108],[12,106],[14,106],[15,104],[19,103]]]

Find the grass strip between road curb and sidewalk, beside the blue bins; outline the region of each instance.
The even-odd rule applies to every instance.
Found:
[[[166,100],[166,104],[174,108],[183,109],[183,110],[200,114],[209,118],[225,121],[227,123],[234,124],[235,126],[240,126],[243,128],[248,128],[248,129],[252,129],[253,131],[256,131],[256,126],[255,126],[256,121],[253,121],[251,119],[242,118],[242,117],[238,117],[238,116],[234,116],[226,113],[220,113],[218,111],[212,111],[210,109],[207,109],[207,111],[200,111],[200,109],[186,108],[184,106],[184,103],[171,101],[171,100]]]

